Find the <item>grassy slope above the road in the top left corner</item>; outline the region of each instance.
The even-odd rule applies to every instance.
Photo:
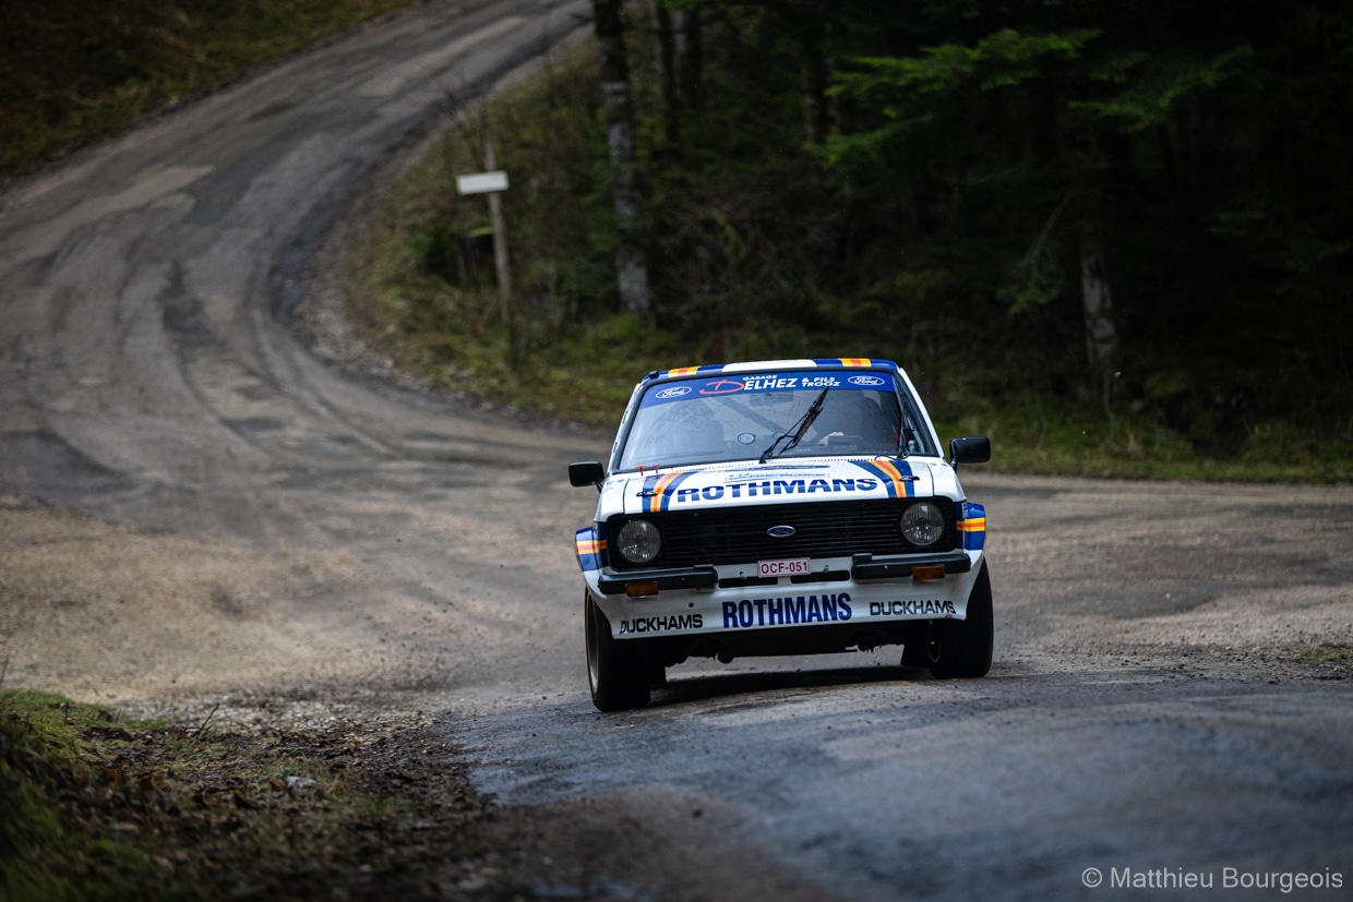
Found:
[[[0,177],[414,0],[9,0]]]

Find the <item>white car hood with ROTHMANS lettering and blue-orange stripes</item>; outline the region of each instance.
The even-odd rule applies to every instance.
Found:
[[[613,514],[935,495],[963,499],[954,469],[935,457],[751,461],[616,473],[606,480],[598,519]]]

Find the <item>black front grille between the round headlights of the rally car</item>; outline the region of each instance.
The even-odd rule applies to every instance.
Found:
[[[902,511],[917,500],[928,500],[944,513],[944,534],[934,545],[917,548],[902,538],[898,525]],[[793,557],[850,557],[869,553],[948,552],[958,530],[954,504],[947,498],[898,498],[867,502],[819,502],[812,504],[764,504],[758,507],[706,507],[698,511],[612,517],[606,534],[620,536],[632,519],[658,525],[662,552],[652,561],[626,563],[614,548],[610,565],[616,569],[694,567],[697,564],[747,564]],[[771,538],[771,526],[793,526],[794,534]],[[614,540],[613,540],[614,541]]]

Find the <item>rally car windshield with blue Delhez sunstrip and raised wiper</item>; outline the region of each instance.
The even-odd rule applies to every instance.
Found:
[[[794,445],[794,430],[819,396],[821,411]],[[658,383],[639,402],[618,468],[756,460],[767,450],[770,458],[935,453],[905,399],[905,385],[888,372],[739,373]]]

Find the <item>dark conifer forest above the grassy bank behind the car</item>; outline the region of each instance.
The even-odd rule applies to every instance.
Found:
[[[603,22],[618,4],[595,5],[613,82]],[[628,223],[652,312],[716,325],[714,356],[721,334],[797,329],[971,360],[996,395],[1146,412],[1218,454],[1272,418],[1346,440],[1350,12],[632,9],[620,27],[659,47],[656,88],[635,93],[644,206]],[[622,115],[607,110],[613,130]],[[736,172],[723,199],[671,201],[728,179],[716,169]]]

